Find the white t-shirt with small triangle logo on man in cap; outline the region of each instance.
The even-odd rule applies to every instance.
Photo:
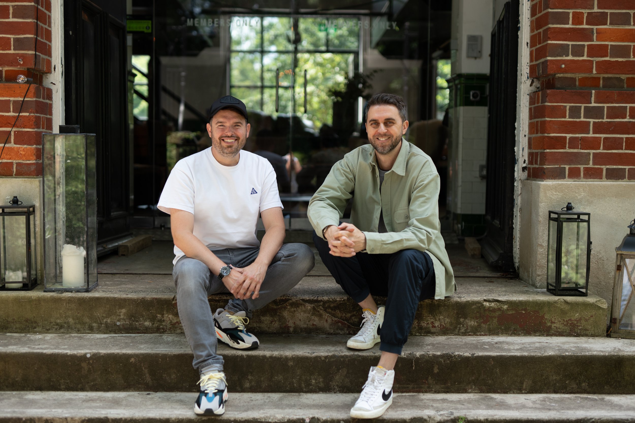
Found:
[[[258,247],[258,214],[282,207],[276,172],[264,157],[241,150],[236,166],[223,166],[211,147],[178,160],[170,172],[159,210],[194,214],[194,236],[212,250]],[[173,263],[184,256],[176,245]]]

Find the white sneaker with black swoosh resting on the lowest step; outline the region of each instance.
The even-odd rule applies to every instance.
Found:
[[[354,419],[375,419],[384,414],[392,404],[392,382],[395,379],[394,370],[371,367],[368,381],[359,395],[359,400],[351,408]]]

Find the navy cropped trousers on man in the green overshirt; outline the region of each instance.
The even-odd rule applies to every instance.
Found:
[[[328,242],[313,231],[313,242],[326,268],[356,303],[368,294],[385,296],[379,349],[401,354],[415,320],[419,301],[434,298],[434,265],[427,252],[401,250],[392,254],[358,252],[352,257],[329,254]]]

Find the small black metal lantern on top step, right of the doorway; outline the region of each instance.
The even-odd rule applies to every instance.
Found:
[[[591,213],[574,208],[549,211],[547,291],[556,296],[589,295]]]

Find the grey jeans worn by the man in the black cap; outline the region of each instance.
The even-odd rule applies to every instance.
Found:
[[[223,249],[213,253],[224,263],[243,268],[255,261],[259,251],[260,248],[255,247]],[[241,300],[232,296],[225,309],[244,311],[251,318],[254,310],[295,287],[314,264],[315,256],[308,245],[283,244],[269,264],[258,298]],[[222,370],[223,358],[216,353],[216,331],[207,297],[229,293],[229,290],[202,261],[187,256],[178,259],[172,276],[177,287],[178,316],[194,353],[192,365],[199,371],[211,367]]]

